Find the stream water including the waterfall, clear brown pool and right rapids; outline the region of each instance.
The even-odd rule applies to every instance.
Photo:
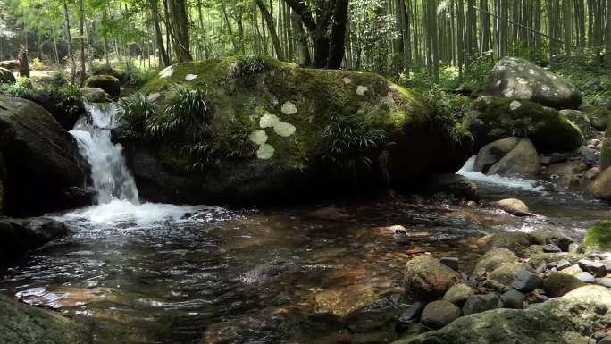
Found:
[[[578,237],[609,215],[606,204],[545,183],[473,172],[473,160],[459,173],[478,183],[484,201],[518,197],[541,216],[393,197],[336,205],[326,220],[312,212],[329,205],[262,211],[140,202],[110,139],[116,110],[88,109],[71,132],[92,165],[98,204],[55,214],[73,235],[13,262],[0,292],[90,319],[94,343],[199,343],[218,323],[242,327],[233,342],[283,342],[281,325],[269,323],[280,310],[344,314],[396,291],[414,254],[458,256],[468,273],[485,232],[554,226]],[[395,224],[411,239],[398,237]],[[306,333],[299,342],[317,342]]]

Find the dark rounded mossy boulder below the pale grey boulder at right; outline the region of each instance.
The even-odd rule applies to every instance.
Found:
[[[476,147],[508,137],[530,138],[540,153],[573,151],[585,143],[582,131],[564,115],[528,100],[481,97],[463,123]]]

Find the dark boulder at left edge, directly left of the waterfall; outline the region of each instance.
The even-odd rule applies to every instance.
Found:
[[[72,199],[87,179],[76,140],[43,107],[0,96],[0,138],[4,214],[44,214],[88,202]]]

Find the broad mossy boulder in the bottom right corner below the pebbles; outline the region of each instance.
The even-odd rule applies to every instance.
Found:
[[[394,344],[575,344],[611,324],[611,292],[586,286],[527,309],[467,315],[438,331]]]

